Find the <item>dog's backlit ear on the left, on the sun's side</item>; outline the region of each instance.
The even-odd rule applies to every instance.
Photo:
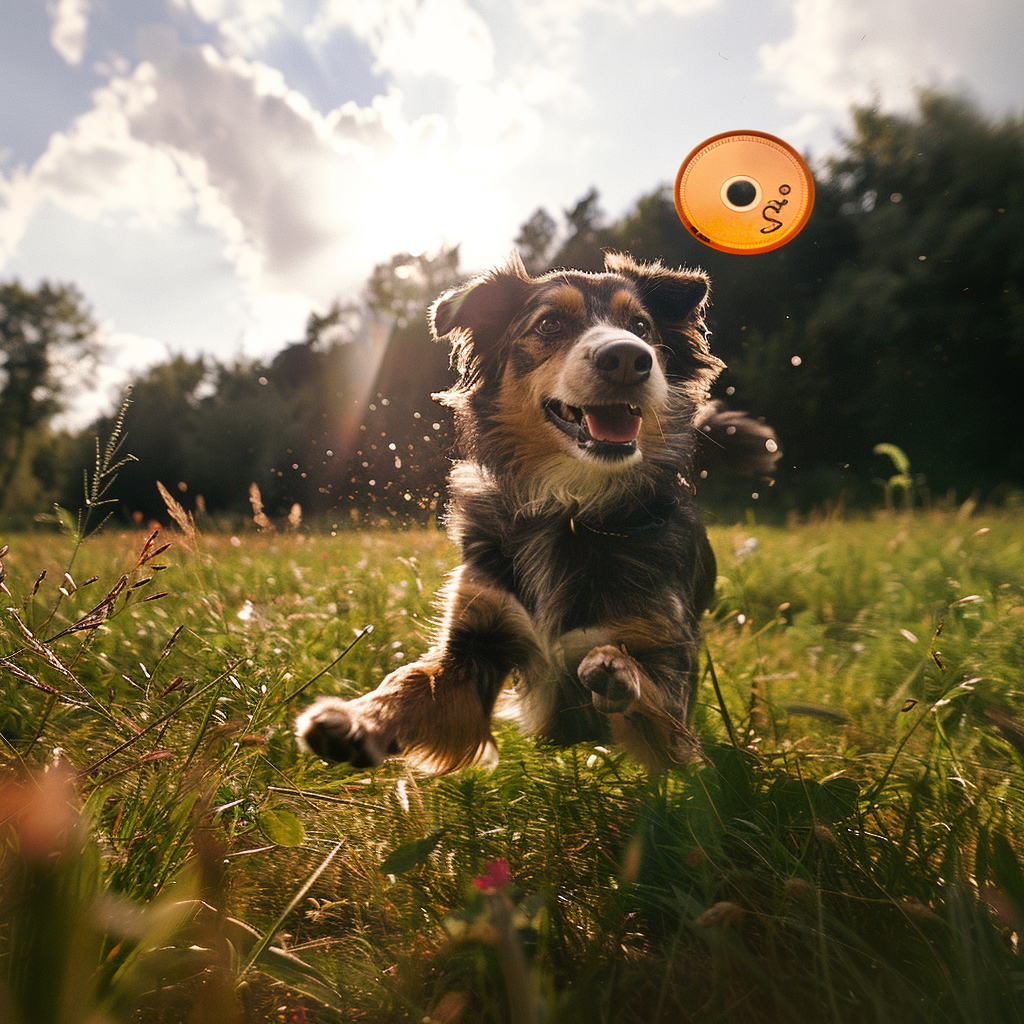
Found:
[[[435,341],[447,338],[452,366],[474,376],[497,354],[499,342],[522,307],[530,285],[518,253],[454,291],[445,292],[428,314]]]

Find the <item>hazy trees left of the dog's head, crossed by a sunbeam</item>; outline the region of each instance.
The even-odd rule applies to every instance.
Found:
[[[268,364],[177,356],[141,375],[126,422],[138,462],[119,485],[125,512],[160,516],[161,481],[200,514],[238,521],[255,483],[271,518],[298,505],[321,519],[427,521],[451,447],[451,417],[430,395],[451,374],[426,310],[460,280],[457,266],[456,249],[395,256],[374,271],[366,310],[312,313],[304,339]],[[66,490],[60,503],[74,505]]]

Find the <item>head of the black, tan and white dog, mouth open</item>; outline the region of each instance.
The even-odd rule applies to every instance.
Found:
[[[438,397],[456,410],[462,454],[578,505],[679,472],[723,367],[702,272],[623,255],[605,266],[534,279],[513,257],[430,311],[459,374]]]

